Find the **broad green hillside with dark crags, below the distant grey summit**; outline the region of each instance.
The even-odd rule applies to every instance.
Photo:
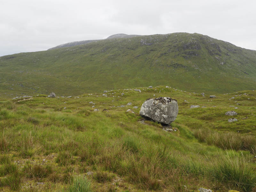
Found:
[[[110,38],[0,57],[0,97],[168,85],[190,92],[253,90],[256,51],[188,33]]]

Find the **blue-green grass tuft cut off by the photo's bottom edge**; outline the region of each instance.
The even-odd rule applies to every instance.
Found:
[[[82,175],[77,175],[73,179],[73,184],[68,188],[68,192],[92,192],[91,182]]]

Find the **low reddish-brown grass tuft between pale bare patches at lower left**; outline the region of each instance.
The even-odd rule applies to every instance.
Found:
[[[45,178],[52,173],[52,166],[50,165],[42,166],[40,164],[36,164],[32,166],[28,164],[24,166],[23,171],[26,172],[26,175],[28,178],[33,178],[33,177]]]

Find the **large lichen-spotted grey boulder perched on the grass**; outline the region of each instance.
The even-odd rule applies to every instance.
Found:
[[[172,123],[178,115],[178,102],[170,97],[147,99],[140,108],[140,116],[161,124]]]

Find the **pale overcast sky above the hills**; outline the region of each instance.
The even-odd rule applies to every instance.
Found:
[[[253,0],[0,0],[0,56],[117,33],[200,33],[256,50]]]

